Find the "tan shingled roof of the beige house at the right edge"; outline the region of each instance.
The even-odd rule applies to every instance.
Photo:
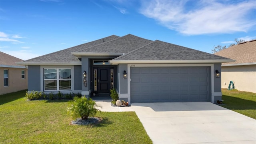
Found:
[[[222,63],[222,66],[256,64],[256,40],[242,42],[214,54],[236,60]]]

